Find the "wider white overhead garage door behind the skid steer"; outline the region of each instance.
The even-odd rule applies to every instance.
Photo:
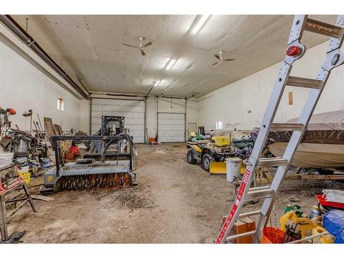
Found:
[[[102,116],[124,116],[133,141],[144,142],[144,100],[92,98],[92,134],[100,129]]]

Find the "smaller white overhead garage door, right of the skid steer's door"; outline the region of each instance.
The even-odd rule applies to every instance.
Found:
[[[158,113],[160,142],[185,142],[185,114]]]

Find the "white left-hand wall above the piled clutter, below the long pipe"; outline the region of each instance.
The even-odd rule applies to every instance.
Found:
[[[57,98],[64,99],[65,111],[57,110]],[[12,127],[17,124],[19,129],[30,129],[30,118],[22,116],[28,109],[33,110],[35,121],[39,114],[43,127],[44,117],[52,118],[63,131],[80,127],[80,120],[76,119],[80,114],[80,100],[1,41],[0,107],[12,107],[17,111],[10,120]]]

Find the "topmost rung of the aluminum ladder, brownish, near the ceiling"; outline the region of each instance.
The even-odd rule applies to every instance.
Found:
[[[334,36],[335,38],[341,38],[343,36],[343,28],[313,19],[307,19],[305,21],[305,30],[326,36]]]

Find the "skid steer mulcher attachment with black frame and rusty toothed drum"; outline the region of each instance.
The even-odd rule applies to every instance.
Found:
[[[81,158],[76,162],[64,163],[61,155],[61,140],[100,140],[103,151],[95,158]],[[135,149],[127,133],[118,136],[52,136],[50,137],[55,151],[56,167],[44,174],[44,186],[40,193],[56,193],[64,190],[81,190],[89,188],[119,189],[136,184],[133,173]],[[123,148],[126,144],[126,148]],[[110,145],[115,151],[107,153]],[[128,150],[120,152],[121,150]],[[111,160],[106,160],[107,158]]]

